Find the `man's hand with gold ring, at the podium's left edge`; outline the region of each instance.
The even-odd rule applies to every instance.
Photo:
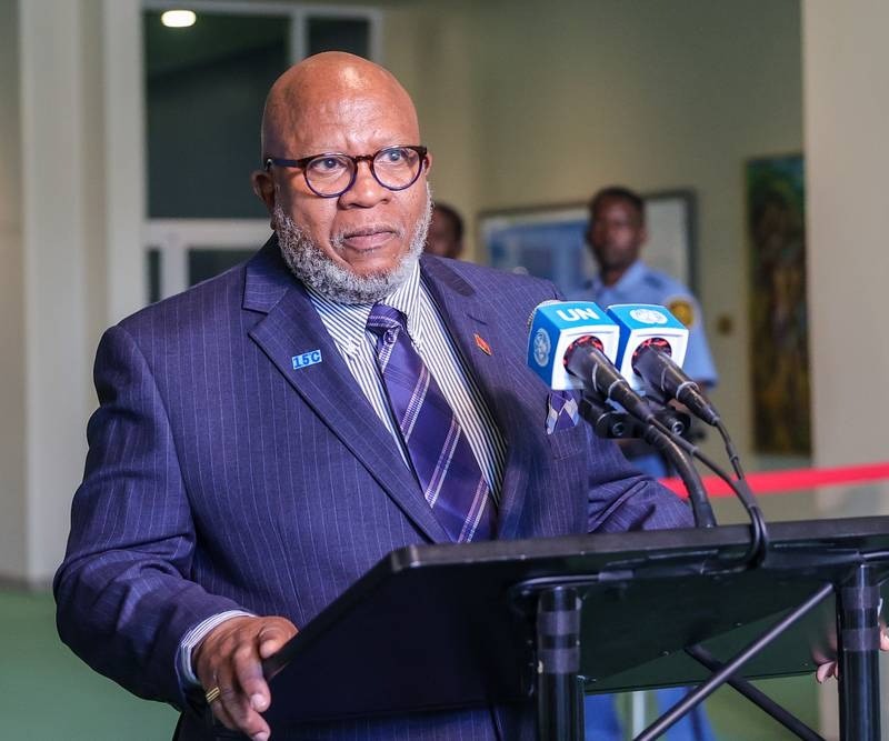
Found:
[[[259,713],[271,704],[271,692],[262,677],[262,660],[296,633],[287,618],[238,617],[213,628],[194,649],[198,679],[204,692],[219,688],[210,707],[227,728],[267,741],[271,730]]]

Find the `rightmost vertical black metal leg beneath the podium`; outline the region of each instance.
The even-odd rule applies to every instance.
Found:
[[[880,592],[867,563],[837,590],[841,741],[880,739]]]

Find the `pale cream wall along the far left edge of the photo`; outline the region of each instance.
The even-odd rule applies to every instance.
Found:
[[[94,327],[106,321],[99,9],[99,0],[2,6],[2,33],[12,38],[0,44],[10,56],[0,74],[4,86],[17,74],[18,84],[9,84],[0,119],[9,134],[0,363],[12,381],[0,418],[0,511],[9,514],[0,575],[32,583],[52,575],[64,549],[94,404]],[[7,150],[16,154],[7,159]]]

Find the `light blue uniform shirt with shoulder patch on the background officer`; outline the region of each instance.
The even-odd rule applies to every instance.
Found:
[[[597,276],[582,292],[570,298],[575,301],[595,301],[603,309],[613,303],[658,303],[667,307],[689,330],[682,369],[698,383],[716,385],[719,377],[703,333],[701,308],[691,291],[678,280],[637,260],[613,286],[605,286]]]

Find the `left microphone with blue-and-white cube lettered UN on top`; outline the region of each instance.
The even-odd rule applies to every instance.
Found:
[[[583,389],[650,423],[655,414],[615,368],[620,329],[591,301],[545,301],[531,314],[528,366],[551,389]]]

